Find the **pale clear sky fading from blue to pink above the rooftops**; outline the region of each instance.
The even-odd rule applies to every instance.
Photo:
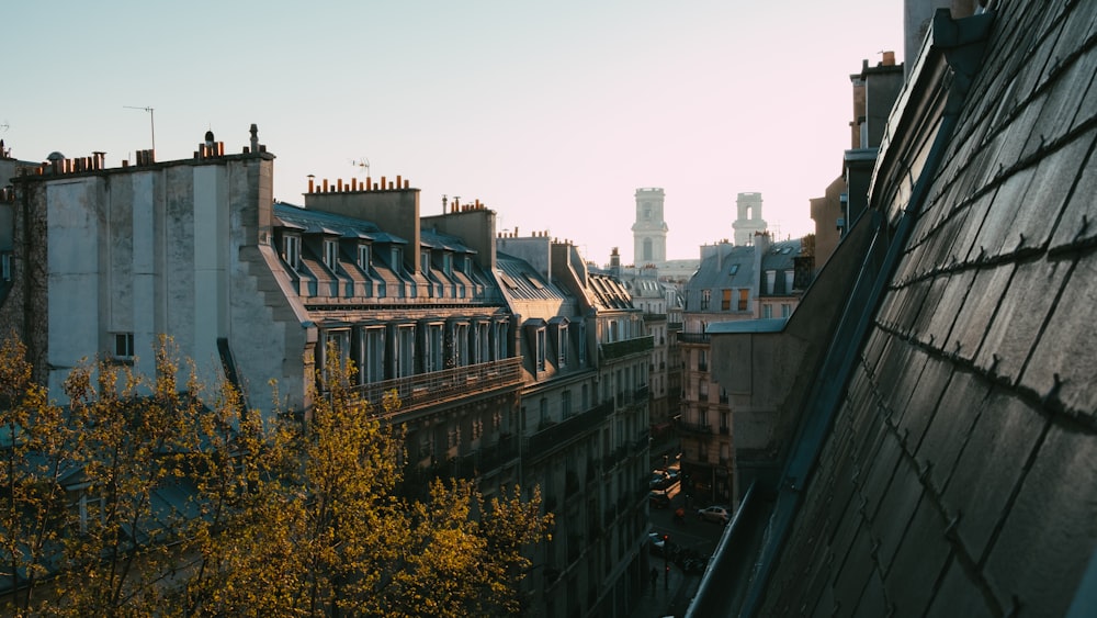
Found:
[[[598,263],[632,263],[638,188],[666,193],[669,259],[732,238],[739,192],[778,239],[812,233],[850,146],[849,76],[903,61],[902,0],[56,0],[5,2],[0,23],[18,159],[118,167],[154,135],[157,160],[184,159],[206,130],[240,153],[256,123],[280,201],[367,162],[423,215],[479,200],[497,231]]]

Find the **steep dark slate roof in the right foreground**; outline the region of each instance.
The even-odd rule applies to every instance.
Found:
[[[1097,2],[997,5],[951,41],[988,25],[975,72],[947,44],[960,68],[901,97],[871,193],[894,269],[848,371],[819,375],[833,417],[804,414],[767,543],[740,543],[746,602],[691,615],[1094,615]],[[953,112],[939,161],[912,156]]]

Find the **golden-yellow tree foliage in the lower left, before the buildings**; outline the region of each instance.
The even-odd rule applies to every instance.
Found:
[[[378,414],[350,363],[317,375],[302,424],[242,409],[227,383],[206,391],[169,338],[151,379],[81,363],[67,412],[31,383],[25,352],[12,337],[0,347],[0,575],[21,591],[18,611],[521,611],[522,552],[552,524],[540,492],[485,501],[472,482],[436,480],[429,497],[400,497],[404,436],[382,420],[399,400]]]

